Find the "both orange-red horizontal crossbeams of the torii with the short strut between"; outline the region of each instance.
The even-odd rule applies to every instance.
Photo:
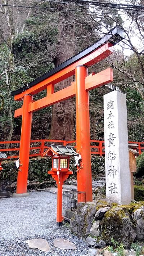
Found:
[[[49,105],[53,105],[60,101],[66,100],[68,98],[72,98],[76,94],[75,90],[75,82],[72,82],[72,85],[57,91],[54,93],[54,84],[55,82],[62,81],[63,78],[70,76],[71,74],[74,75],[75,68],[78,65],[92,65],[93,63],[99,62],[100,60],[104,59],[108,55],[112,54],[113,46],[111,43],[107,43],[101,46],[99,49],[95,50],[93,53],[87,55],[81,60],[71,64],[70,66],[64,68],[62,71],[55,73],[54,75],[50,76],[49,78],[39,82],[35,86],[27,89],[21,94],[15,95],[15,100],[21,100],[25,94],[35,94],[41,90],[47,88],[47,96],[29,103],[28,105],[28,112],[35,112],[41,108],[48,107]],[[96,87],[108,84],[109,82],[113,81],[113,71],[111,68],[107,68],[104,71],[101,71],[95,75],[91,74],[85,78],[85,89],[86,91],[92,90]],[[14,117],[22,116],[22,108],[15,110]]]

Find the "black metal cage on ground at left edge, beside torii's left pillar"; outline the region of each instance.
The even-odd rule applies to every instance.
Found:
[[[0,198],[12,197],[11,180],[0,180]]]

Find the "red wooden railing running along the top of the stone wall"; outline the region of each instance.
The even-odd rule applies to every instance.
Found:
[[[18,158],[19,156],[19,140],[0,142],[0,152],[7,152],[8,158]],[[76,140],[31,140],[30,157],[42,156],[49,143],[58,143],[64,146],[73,145],[76,148]],[[141,154],[144,151],[144,142],[129,142],[138,144],[138,151]],[[10,144],[10,148],[4,149],[4,144]],[[32,145],[33,144],[33,145]],[[104,140],[91,140],[91,154],[104,156]]]

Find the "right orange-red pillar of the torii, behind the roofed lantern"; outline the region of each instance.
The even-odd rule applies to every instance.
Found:
[[[86,202],[93,201],[90,153],[89,92],[85,90],[87,68],[76,67],[76,147],[81,155],[77,167],[77,190],[86,192]]]

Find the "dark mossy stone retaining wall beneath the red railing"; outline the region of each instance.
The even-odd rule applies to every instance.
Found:
[[[93,179],[98,179],[98,174],[105,173],[104,157],[91,157],[92,174]],[[4,170],[0,172],[0,179],[11,180],[12,190],[16,188],[17,182],[17,167],[15,161],[2,162]],[[73,171],[73,175],[69,176],[70,179],[76,178],[75,160],[71,159],[70,168]],[[38,157],[29,160],[28,170],[28,187],[27,189],[39,189],[51,187],[55,184],[55,181],[48,175],[48,170],[51,169],[51,158]]]

